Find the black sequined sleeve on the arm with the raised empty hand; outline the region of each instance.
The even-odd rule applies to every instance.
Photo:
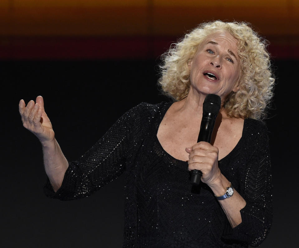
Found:
[[[132,128],[138,118],[136,108],[119,118],[78,161],[69,162],[62,185],[56,193],[48,180],[44,188],[45,194],[60,200],[83,198],[123,173]]]

